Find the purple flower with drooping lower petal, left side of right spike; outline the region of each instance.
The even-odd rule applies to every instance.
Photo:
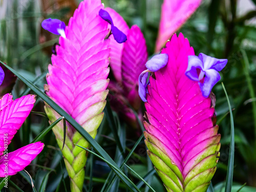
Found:
[[[145,64],[147,70],[143,71],[139,76],[139,96],[142,101],[146,102],[146,93],[147,92],[147,86],[149,84],[149,81],[146,82],[148,73],[149,72],[156,72],[159,69],[166,66],[168,62],[168,54],[158,54],[153,56],[150,60],[148,60]]]

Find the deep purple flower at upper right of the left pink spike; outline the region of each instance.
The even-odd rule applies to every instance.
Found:
[[[99,16],[111,25],[111,31],[114,36],[114,39],[119,44],[121,44],[122,42],[125,42],[127,40],[126,35],[122,31],[120,31],[117,27],[114,26],[113,20],[112,20],[110,14],[108,13],[108,11],[100,9]]]

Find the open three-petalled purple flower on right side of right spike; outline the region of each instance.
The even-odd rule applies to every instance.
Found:
[[[185,72],[191,80],[198,81],[204,97],[210,95],[211,89],[221,79],[218,71],[227,64],[227,59],[217,59],[203,53],[199,56],[188,56],[188,67]]]

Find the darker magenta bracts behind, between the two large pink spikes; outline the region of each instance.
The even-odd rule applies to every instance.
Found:
[[[138,26],[134,25],[129,29],[122,16],[115,10],[105,8],[105,11],[109,12],[115,26],[127,35],[127,40],[123,44],[118,44],[114,37],[110,36],[110,67],[115,77],[108,87],[111,93],[110,103],[120,119],[132,127],[138,127],[136,116],[129,105],[143,120],[138,94],[138,77],[146,69],[146,41]]]

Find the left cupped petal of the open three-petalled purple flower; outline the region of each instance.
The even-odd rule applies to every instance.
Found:
[[[188,56],[188,66],[187,66],[185,75],[189,79],[195,80],[195,81],[199,81],[202,79],[202,77],[204,75],[203,62],[199,59],[198,56],[196,56],[196,55]]]

